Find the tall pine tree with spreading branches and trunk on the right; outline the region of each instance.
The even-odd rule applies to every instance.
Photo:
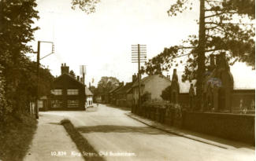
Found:
[[[169,16],[192,9],[194,2],[177,0],[171,5]],[[210,53],[226,53],[230,64],[239,60],[254,68],[254,6],[253,0],[200,0],[198,35],[190,35],[181,46],[164,49],[142,71],[152,75],[168,70],[177,66],[177,57],[187,55],[183,81],[197,79],[198,100],[202,100],[202,80],[210,68]]]

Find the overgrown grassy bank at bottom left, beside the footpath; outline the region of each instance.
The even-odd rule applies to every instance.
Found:
[[[0,123],[0,160],[23,160],[36,128],[37,121],[29,115],[9,116]]]

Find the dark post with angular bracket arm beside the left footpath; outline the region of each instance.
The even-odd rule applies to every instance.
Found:
[[[52,44],[52,51],[51,53],[47,54],[45,57],[50,56],[51,54],[54,53],[54,42],[45,42],[45,41],[38,41],[37,42],[37,60],[36,60],[36,77],[37,77],[37,83],[36,83],[36,102],[35,102],[35,119],[39,119],[39,106],[38,106],[38,101],[39,101],[39,66],[40,66],[40,60],[42,60],[45,57],[40,58],[40,43],[51,43]]]

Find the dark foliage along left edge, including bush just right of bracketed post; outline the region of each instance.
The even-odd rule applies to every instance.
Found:
[[[32,27],[39,19],[35,0],[0,1],[0,69],[2,95],[0,118],[9,114],[28,112],[29,102],[35,101],[36,63],[25,55],[32,53],[27,43],[34,39],[38,27]],[[53,76],[48,69],[39,68],[39,96],[50,93]]]

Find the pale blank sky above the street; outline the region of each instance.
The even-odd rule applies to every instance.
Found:
[[[30,45],[36,51],[37,41],[54,42],[55,53],[41,64],[54,76],[61,75],[63,63],[76,75],[80,75],[80,65],[86,65],[87,85],[91,82],[97,86],[102,76],[131,82],[132,75],[138,72],[138,64],[132,64],[131,58],[134,44],[147,45],[150,59],[165,47],[179,45],[188,35],[198,34],[198,1],[192,10],[172,17],[167,10],[176,0],[102,0],[96,12],[89,15],[71,9],[71,2],[37,0],[40,19],[35,26],[40,29]],[[51,44],[41,43],[41,57],[50,52]],[[178,72],[182,70],[180,67]]]

